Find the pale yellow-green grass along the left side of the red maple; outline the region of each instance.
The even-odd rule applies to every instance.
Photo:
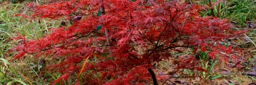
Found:
[[[27,12],[24,4],[10,4],[4,1],[0,4],[0,84],[49,84],[52,79],[44,81],[41,78],[43,65],[41,60],[26,57],[20,61],[13,61],[13,54],[7,55],[7,51],[17,44],[12,41],[14,36],[25,36],[28,39],[39,39],[48,33],[49,28],[56,28],[57,22],[53,20],[29,20],[24,17],[15,17],[20,12]],[[50,60],[50,59],[49,59]],[[47,82],[47,83],[45,83]]]

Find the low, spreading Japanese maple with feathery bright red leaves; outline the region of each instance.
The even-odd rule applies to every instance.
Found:
[[[71,0],[52,1],[33,8],[32,17],[71,20],[71,26],[52,28],[41,39],[23,39],[19,52],[36,57],[62,57],[49,65],[63,75],[54,84],[84,73],[84,84],[157,84],[153,63],[193,49],[177,68],[200,70],[193,63],[196,52],[212,59],[236,59],[231,46],[220,41],[238,34],[228,20],[201,17],[204,7],[165,0]],[[77,19],[78,18],[78,19]],[[220,54],[222,53],[222,54]],[[225,53],[225,54],[223,54]],[[217,54],[217,56],[215,56]],[[227,54],[229,56],[227,56]],[[98,75],[98,76],[96,76]],[[79,79],[77,79],[79,82]]]

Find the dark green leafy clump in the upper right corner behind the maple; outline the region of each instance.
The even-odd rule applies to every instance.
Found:
[[[217,0],[211,0],[217,3]],[[215,17],[228,18],[236,21],[241,26],[246,26],[247,21],[255,19],[256,9],[254,0],[227,0],[213,6]],[[209,1],[201,1],[201,4],[209,4]],[[211,9],[202,12],[203,16],[212,15]]]

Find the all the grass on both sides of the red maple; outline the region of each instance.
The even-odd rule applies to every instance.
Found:
[[[215,2],[217,0],[212,0]],[[50,65],[53,61],[50,58],[37,59],[33,55],[20,59],[18,61],[13,60],[14,54],[6,54],[9,49],[12,48],[18,41],[11,41],[15,36],[25,36],[28,39],[39,39],[41,36],[49,33],[50,28],[55,28],[60,25],[60,22],[55,20],[29,20],[23,17],[14,17],[13,15],[26,12],[25,3],[23,4],[11,4],[8,1],[0,0],[0,84],[51,84],[52,81],[61,76],[60,73],[51,72],[47,73],[46,65]],[[41,1],[39,1],[40,3]],[[207,1],[195,1],[200,4],[207,4]],[[230,20],[236,21],[237,28],[247,29],[247,22],[255,23],[255,4],[252,0],[227,0],[224,3],[217,4],[214,7],[214,14],[220,18],[228,18]],[[210,10],[202,12],[202,16],[210,15]],[[252,28],[246,33],[246,35],[256,42],[255,28]],[[241,48],[248,52],[246,56],[247,62],[244,63],[247,68],[244,71],[237,71],[237,68],[225,68],[223,63],[216,61],[207,60],[207,54],[202,54],[201,65],[203,68],[207,69],[209,73],[200,73],[191,70],[182,70],[180,73],[188,76],[199,75],[205,78],[205,81],[200,81],[199,78],[168,78],[169,84],[175,81],[184,81],[191,84],[249,84],[256,82],[255,76],[245,76],[242,75],[244,72],[249,72],[252,67],[255,66],[256,61],[256,49],[251,43],[247,43],[245,40],[248,37],[236,38],[236,44],[243,46],[244,44],[249,44],[249,46]],[[181,55],[181,54],[178,54]],[[157,67],[157,74],[164,73],[168,74],[173,71],[172,62],[175,60],[170,59],[164,62],[159,62]],[[51,61],[51,62],[50,62]],[[230,63],[232,64],[232,63]],[[224,69],[224,70],[222,70]],[[177,76],[176,74],[176,76]],[[81,74],[83,76],[84,74]],[[162,74],[161,74],[162,75]],[[164,75],[167,76],[167,75]],[[167,76],[168,77],[168,76]],[[65,81],[62,84],[72,84],[75,80],[68,79],[70,81]],[[163,82],[164,82],[163,81]],[[178,84],[176,82],[176,84]]]

